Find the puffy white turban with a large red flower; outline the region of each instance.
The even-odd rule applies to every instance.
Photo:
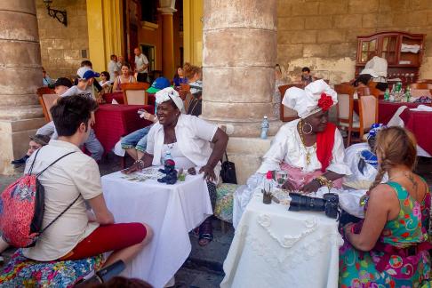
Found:
[[[325,95],[323,95],[323,100],[321,100],[323,93]],[[324,80],[316,80],[308,84],[305,90],[297,87],[289,88],[284,94],[282,104],[287,108],[296,110],[300,118],[304,119],[323,109],[318,106],[319,100],[321,100],[321,105],[325,103],[324,109],[329,108],[330,100],[332,100],[330,106],[338,103],[338,94]]]

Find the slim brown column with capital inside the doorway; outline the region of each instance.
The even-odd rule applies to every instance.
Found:
[[[175,4],[175,1],[174,1]],[[162,72],[165,77],[172,79],[174,76],[174,28],[172,13],[177,10],[169,7],[159,8],[162,14]]]

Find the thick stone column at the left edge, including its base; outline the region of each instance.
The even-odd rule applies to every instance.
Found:
[[[0,173],[10,174],[28,136],[44,124],[36,89],[42,86],[35,1],[0,1]]]

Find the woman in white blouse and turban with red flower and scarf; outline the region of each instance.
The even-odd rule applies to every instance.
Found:
[[[282,104],[297,111],[300,119],[284,124],[263,157],[258,171],[247,181],[248,188],[236,195],[235,227],[252,191],[268,171],[288,172],[283,188],[316,192],[322,186],[340,188],[341,178],[351,174],[344,163],[343,139],[334,124],[328,122],[329,109],[337,103],[337,94],[324,80],[316,80],[305,90],[289,88]]]

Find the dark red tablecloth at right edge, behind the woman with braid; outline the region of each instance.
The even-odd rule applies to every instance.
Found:
[[[400,117],[405,128],[414,133],[417,144],[432,155],[432,112],[404,109]]]

